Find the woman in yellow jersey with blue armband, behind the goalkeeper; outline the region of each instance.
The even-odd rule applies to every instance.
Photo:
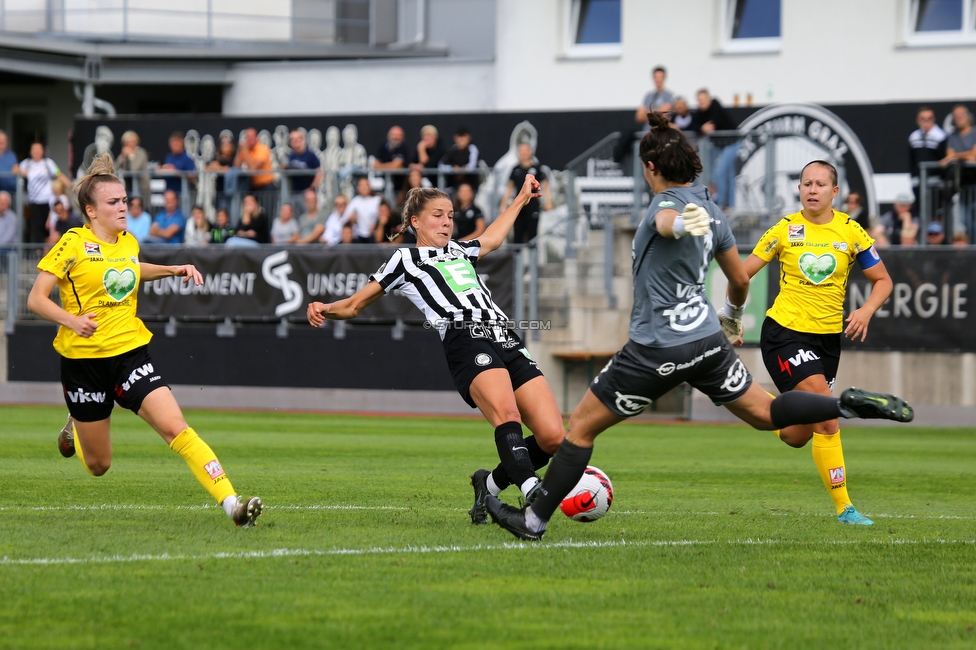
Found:
[[[783,217],[766,231],[745,261],[753,277],[779,258],[780,291],[766,312],[760,348],[780,392],[802,390],[830,395],[840,362],[841,332],[850,339],[867,336],[874,312],[891,295],[891,277],[874,240],[843,212],[833,209],[837,170],[814,160],[800,173],[800,212]],[[851,312],[844,326],[844,296],[851,266],[857,263],[874,285],[871,296]],[[734,311],[727,305],[726,312]],[[734,314],[729,314],[734,315]],[[871,525],[847,493],[847,467],[837,420],[792,427],[780,436],[791,447],[813,438],[813,460],[824,487],[846,524]]]

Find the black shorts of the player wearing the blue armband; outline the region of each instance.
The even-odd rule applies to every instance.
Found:
[[[786,329],[772,318],[763,321],[759,348],[779,392],[793,390],[812,375],[823,375],[834,389],[840,365],[840,334],[809,334]]]

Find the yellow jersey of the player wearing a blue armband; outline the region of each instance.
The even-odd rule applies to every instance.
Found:
[[[851,264],[870,268],[881,258],[874,240],[843,212],[815,224],[802,212],[766,231],[752,254],[765,262],[779,257],[779,295],[766,315],[787,329],[811,334],[844,331],[844,296]]]

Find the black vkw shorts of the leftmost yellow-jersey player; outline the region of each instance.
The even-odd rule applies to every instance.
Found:
[[[61,387],[71,417],[97,422],[112,414],[114,402],[138,413],[142,400],[168,386],[149,358],[147,345],[104,359],[61,357]]]

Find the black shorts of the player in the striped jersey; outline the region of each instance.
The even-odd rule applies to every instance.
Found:
[[[444,356],[458,394],[471,408],[471,382],[485,370],[504,368],[512,379],[512,390],[542,376],[539,365],[513,330],[493,329],[478,323],[452,327],[444,335]]]

